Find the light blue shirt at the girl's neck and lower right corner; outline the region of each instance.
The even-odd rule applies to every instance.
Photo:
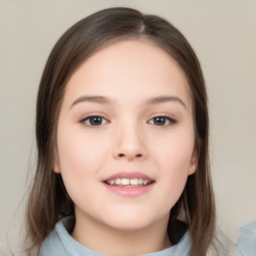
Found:
[[[72,217],[65,217],[59,220],[54,229],[42,243],[39,256],[104,256],[77,242],[66,230],[65,226]],[[143,256],[189,256],[191,242],[189,233],[186,232],[181,240],[161,251],[152,252]],[[220,253],[223,256],[256,256],[256,220],[245,224],[239,230],[236,247],[229,250],[229,253]],[[207,255],[217,255],[214,250],[209,249]],[[218,253],[219,255],[219,253]]]

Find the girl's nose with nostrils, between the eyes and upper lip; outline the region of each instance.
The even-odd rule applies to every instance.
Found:
[[[146,140],[138,127],[122,127],[115,133],[113,157],[128,161],[147,157]]]

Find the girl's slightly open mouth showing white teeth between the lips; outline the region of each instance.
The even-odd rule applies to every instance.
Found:
[[[121,187],[138,187],[138,186],[146,186],[151,184],[154,181],[150,181],[146,178],[121,178],[117,177],[115,179],[105,180],[104,183],[110,186],[121,186]]]

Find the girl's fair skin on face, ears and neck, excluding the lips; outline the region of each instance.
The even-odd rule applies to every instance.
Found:
[[[81,98],[98,95],[107,102]],[[172,98],[149,102],[162,96]],[[102,123],[91,125],[90,115],[102,116]],[[171,119],[158,125],[157,116]],[[73,238],[119,256],[171,246],[169,211],[194,172],[193,148],[188,85],[165,51],[123,40],[94,53],[68,81],[57,127],[54,171],[61,173],[74,202]],[[154,182],[138,196],[120,196],[103,182],[119,171],[139,171]]]

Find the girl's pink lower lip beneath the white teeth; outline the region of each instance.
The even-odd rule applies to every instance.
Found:
[[[110,192],[115,193],[119,196],[123,197],[135,197],[142,195],[152,189],[155,182],[152,182],[145,186],[115,186],[115,185],[108,185],[103,182],[106,189]]]

